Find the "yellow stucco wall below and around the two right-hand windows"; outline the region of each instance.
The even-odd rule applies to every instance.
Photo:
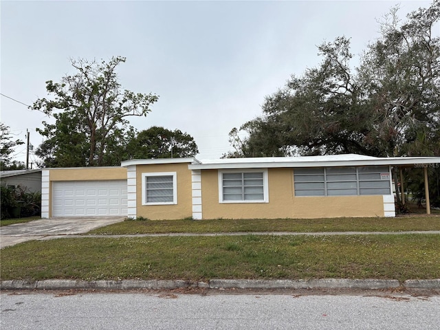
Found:
[[[269,203],[219,203],[217,170],[201,171],[203,219],[383,217],[379,196],[294,197],[292,168],[269,168]]]

